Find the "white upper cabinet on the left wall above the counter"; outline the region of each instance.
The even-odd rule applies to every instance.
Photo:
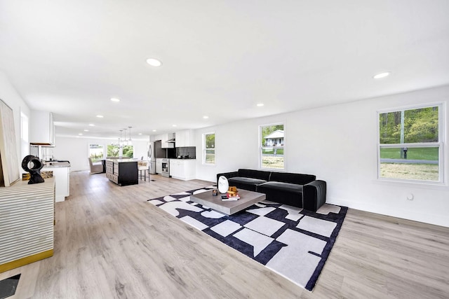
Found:
[[[46,111],[31,111],[29,141],[31,144],[41,146],[55,145],[53,113]]]

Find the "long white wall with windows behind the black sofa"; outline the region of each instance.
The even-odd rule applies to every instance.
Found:
[[[258,167],[258,126],[283,122],[288,172],[316,174],[328,183],[327,202],[449,227],[449,188],[377,180],[377,111],[444,102],[449,120],[449,86],[196,130],[197,179]],[[201,165],[201,139],[215,132],[215,166]],[[448,130],[445,132],[446,141]],[[444,145],[449,159],[448,146]],[[448,161],[445,172],[449,176]],[[447,183],[446,179],[446,183]],[[408,194],[414,200],[407,200]]]

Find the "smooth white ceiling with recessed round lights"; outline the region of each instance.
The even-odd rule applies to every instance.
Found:
[[[448,0],[1,0],[0,70],[59,136],[137,138],[449,84],[448,13]]]

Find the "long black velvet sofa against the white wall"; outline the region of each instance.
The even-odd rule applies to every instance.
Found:
[[[264,193],[267,200],[316,211],[326,202],[326,181],[316,180],[313,174],[266,172],[239,169],[217,174],[225,176],[229,186]]]

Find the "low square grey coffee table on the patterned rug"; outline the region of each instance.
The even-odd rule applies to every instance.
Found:
[[[190,200],[192,202],[198,202],[204,206],[210,207],[215,211],[220,211],[223,214],[232,215],[238,211],[246,209],[252,206],[256,202],[261,202],[265,200],[264,193],[258,193],[248,190],[239,190],[240,199],[239,200],[222,200],[222,195],[218,193],[217,196],[212,195],[212,190],[208,190],[203,193],[198,193],[195,195],[190,195]]]

